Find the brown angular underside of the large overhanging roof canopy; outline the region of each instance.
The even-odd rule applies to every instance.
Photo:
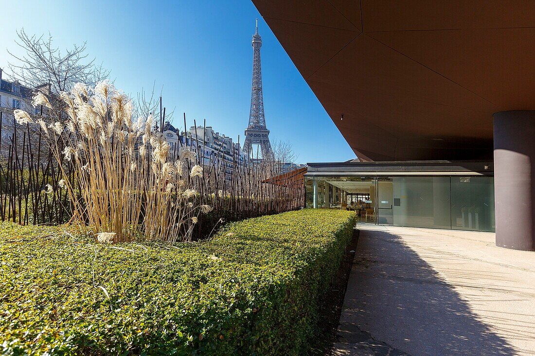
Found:
[[[535,109],[535,1],[253,2],[361,159],[491,159]]]

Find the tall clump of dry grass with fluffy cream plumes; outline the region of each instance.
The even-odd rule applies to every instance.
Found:
[[[101,235],[106,241],[189,240],[198,215],[211,211],[197,194],[203,167],[186,170],[196,154],[184,148],[179,159],[168,161],[169,143],[154,130],[152,116],[133,119],[132,100],[107,81],[94,89],[77,84],[60,99],[66,121],[35,123],[52,142],[56,160],[75,167],[69,180],[65,165],[58,165],[64,176],[58,189],[70,197],[71,221],[97,236],[111,233]],[[34,105],[52,109],[43,94]],[[15,115],[19,123],[32,121],[23,111]]]

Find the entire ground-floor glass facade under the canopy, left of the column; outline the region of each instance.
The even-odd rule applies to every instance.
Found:
[[[354,210],[363,223],[495,231],[491,176],[305,177],[307,207]]]

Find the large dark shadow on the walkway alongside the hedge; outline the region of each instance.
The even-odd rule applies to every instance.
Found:
[[[334,355],[517,354],[399,236],[377,230],[361,231],[338,338]]]

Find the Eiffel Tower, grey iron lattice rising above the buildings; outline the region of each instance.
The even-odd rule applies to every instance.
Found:
[[[269,130],[266,128],[264,117],[264,99],[262,97],[262,69],[260,67],[260,48],[262,37],[258,34],[258,19],[256,32],[253,35],[253,87],[251,88],[251,111],[249,113],[249,126],[245,130],[243,152],[251,157],[254,144],[260,145],[262,159],[272,159],[273,150],[269,141]]]

